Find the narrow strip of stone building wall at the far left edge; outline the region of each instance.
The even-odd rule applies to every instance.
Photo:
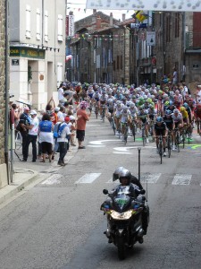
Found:
[[[6,165],[4,160],[4,121],[5,121],[4,22],[5,22],[5,1],[0,0],[0,188],[4,187],[7,184]]]

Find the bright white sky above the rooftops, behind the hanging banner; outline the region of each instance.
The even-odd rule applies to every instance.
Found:
[[[86,10],[87,0],[67,0],[67,13],[70,11],[74,14],[74,22],[77,22],[93,13],[92,9]],[[97,10],[98,11],[98,10]],[[121,11],[121,10],[101,10],[102,13],[110,15],[113,13],[114,19],[122,20],[122,13],[126,14],[126,19],[129,19],[134,11]]]

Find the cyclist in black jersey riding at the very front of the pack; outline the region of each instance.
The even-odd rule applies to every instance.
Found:
[[[156,117],[156,123],[154,126],[154,135],[155,135],[155,143],[156,143],[156,153],[158,153],[158,144],[159,144],[159,136],[162,135],[163,139],[163,156],[166,156],[165,148],[166,148],[166,137],[168,134],[168,128],[163,121],[163,117]]]

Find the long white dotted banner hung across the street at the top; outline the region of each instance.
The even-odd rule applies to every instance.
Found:
[[[87,0],[88,9],[200,12],[200,0]]]

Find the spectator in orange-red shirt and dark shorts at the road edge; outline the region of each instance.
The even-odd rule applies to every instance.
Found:
[[[85,149],[85,146],[82,145],[85,138],[85,129],[87,121],[91,113],[87,113],[86,108],[88,108],[88,103],[86,101],[80,102],[80,108],[77,110],[77,130],[76,138],[78,138],[79,149]]]

